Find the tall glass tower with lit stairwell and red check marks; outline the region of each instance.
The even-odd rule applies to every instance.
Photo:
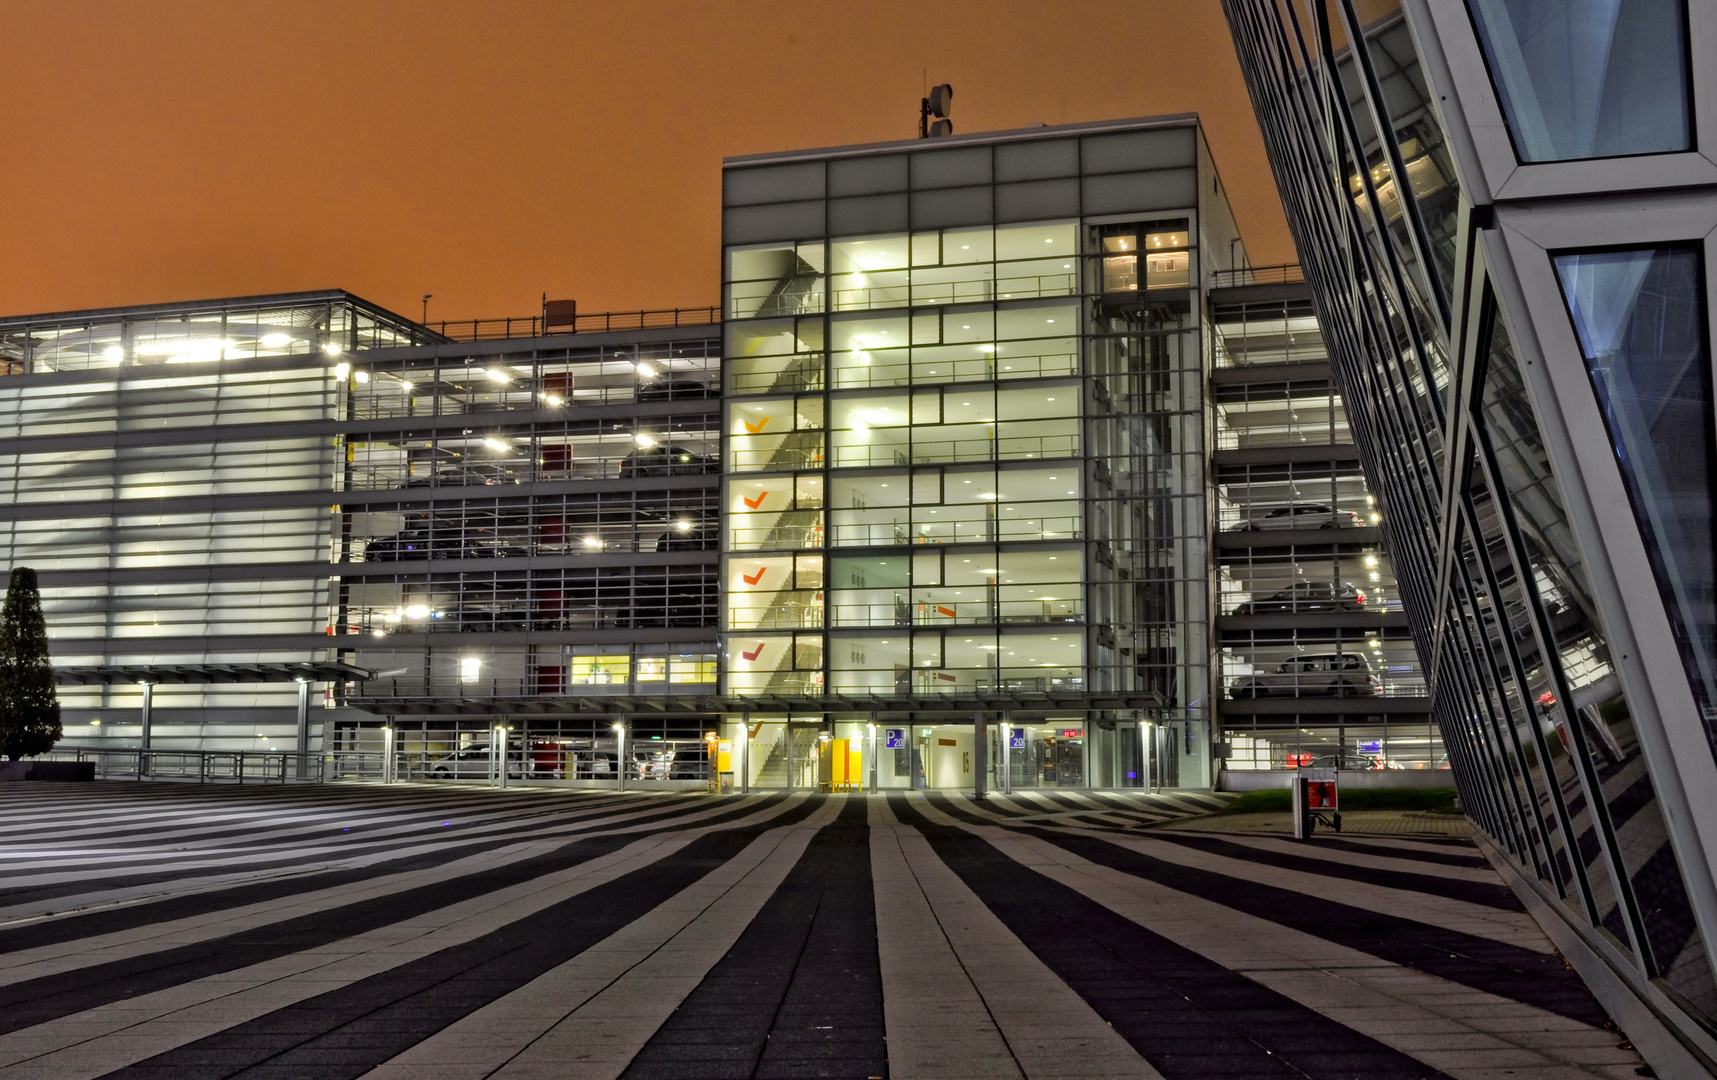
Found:
[[[723,203],[742,783],[1209,786],[1197,122],[735,158]]]

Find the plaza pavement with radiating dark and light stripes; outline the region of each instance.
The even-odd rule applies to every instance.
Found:
[[[0,1077],[1638,1077],[1465,840],[1212,795],[0,785]]]

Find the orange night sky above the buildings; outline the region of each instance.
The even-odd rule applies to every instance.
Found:
[[[9,0],[0,312],[349,288],[716,302],[726,155],[1198,112],[1293,261],[1217,0]]]

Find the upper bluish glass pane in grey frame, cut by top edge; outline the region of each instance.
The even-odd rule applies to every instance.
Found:
[[[1521,161],[1693,148],[1683,0],[1470,0]]]

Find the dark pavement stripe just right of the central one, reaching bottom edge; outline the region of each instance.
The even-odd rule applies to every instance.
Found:
[[[1168,1080],[1444,1077],[891,797],[936,855]]]

